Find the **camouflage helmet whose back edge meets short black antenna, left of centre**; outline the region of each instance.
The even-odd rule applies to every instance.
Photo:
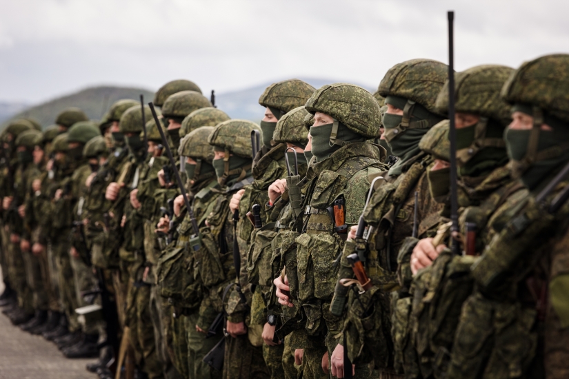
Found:
[[[253,158],[251,132],[259,130],[259,125],[247,120],[228,120],[218,124],[208,137],[208,143],[230,153]]]

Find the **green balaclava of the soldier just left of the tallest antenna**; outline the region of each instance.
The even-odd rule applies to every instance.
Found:
[[[407,99],[399,96],[387,96],[386,104],[403,110],[403,116],[405,116],[405,112],[408,113],[407,121],[403,120],[403,116],[397,114],[383,114],[383,126],[386,128],[384,135],[391,147],[392,154],[399,158],[397,164],[392,167],[393,170],[419,154],[419,141],[428,132],[430,126],[437,124],[443,117],[429,112],[426,107],[419,103],[407,101]],[[404,125],[405,123],[408,125]]]

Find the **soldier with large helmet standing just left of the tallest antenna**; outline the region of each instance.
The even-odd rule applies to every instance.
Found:
[[[370,225],[371,232],[366,239],[350,241],[343,252],[345,259],[361,251],[358,255],[365,261],[373,284],[361,296],[350,291],[344,325],[348,356],[356,367],[358,363],[373,362],[384,376],[394,374],[390,292],[398,291],[401,298],[407,298],[408,288],[399,286],[397,272],[401,278],[410,276],[410,256],[398,255],[399,249],[405,238],[412,235],[415,225],[417,236],[430,236],[435,234],[439,223],[441,206],[431,198],[427,181],[427,167],[433,159],[419,150],[419,141],[442,119],[436,113],[435,99],[447,74],[448,68],[443,63],[415,59],[390,68],[381,80],[379,94],[386,97],[386,103],[403,110],[403,116],[383,114],[384,135],[399,161],[388,172],[377,175],[384,179],[379,179],[379,188],[376,183],[363,212],[363,221]],[[352,278],[350,265],[346,260],[342,263],[343,273],[339,278]],[[365,326],[363,318],[367,320]]]

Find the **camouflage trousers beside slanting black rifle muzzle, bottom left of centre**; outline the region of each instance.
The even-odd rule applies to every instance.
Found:
[[[219,379],[221,372],[203,362],[203,357],[223,338],[222,334],[206,338],[206,335],[196,330],[199,314],[196,311],[186,319],[186,342],[188,345],[188,378],[189,379]]]

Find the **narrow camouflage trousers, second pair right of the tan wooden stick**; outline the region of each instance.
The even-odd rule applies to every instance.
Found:
[[[166,379],[181,379],[182,376],[177,371],[176,367],[172,365],[168,343],[172,347],[172,336],[170,330],[170,318],[165,313],[163,305],[164,299],[157,293],[158,287],[152,285],[150,287],[150,319],[152,320],[152,327],[154,329],[154,344],[156,345],[156,353],[159,362],[163,367],[164,376]],[[168,336],[170,334],[170,336]],[[168,340],[170,342],[168,342]]]

